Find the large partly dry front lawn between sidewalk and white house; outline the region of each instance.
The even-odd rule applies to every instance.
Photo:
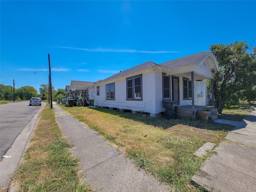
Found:
[[[193,153],[206,142],[217,145],[233,126],[214,122],[142,116],[104,108],[62,108],[108,142],[124,150],[138,166],[174,191],[205,191],[190,183],[205,158]]]

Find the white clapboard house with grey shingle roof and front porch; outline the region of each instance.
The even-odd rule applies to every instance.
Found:
[[[95,106],[150,113],[164,112],[162,101],[179,106],[207,106],[212,79],[218,63],[211,52],[200,52],[162,64],[148,61],[100,80],[89,88]],[[71,85],[70,85],[71,87]]]

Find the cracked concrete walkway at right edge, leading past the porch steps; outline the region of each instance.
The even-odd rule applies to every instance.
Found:
[[[212,192],[256,191],[256,110],[242,122],[215,120],[236,126],[226,139],[240,144],[222,142],[217,154],[206,160],[192,180]]]

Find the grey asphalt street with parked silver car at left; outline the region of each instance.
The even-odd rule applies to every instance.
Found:
[[[42,106],[29,106],[29,101],[0,105],[0,161],[26,124]]]

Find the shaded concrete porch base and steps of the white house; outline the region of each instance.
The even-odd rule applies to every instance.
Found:
[[[189,118],[191,120],[196,120],[198,111],[205,109],[208,112],[208,120],[218,119],[218,110],[214,106],[178,106],[176,111],[177,118]]]

